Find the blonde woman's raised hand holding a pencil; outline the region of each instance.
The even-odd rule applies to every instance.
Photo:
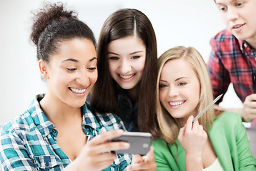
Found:
[[[186,152],[186,157],[202,157],[207,133],[203,130],[202,125],[199,125],[198,120],[192,123],[193,119],[192,115],[189,116],[186,125],[179,130],[178,140]]]

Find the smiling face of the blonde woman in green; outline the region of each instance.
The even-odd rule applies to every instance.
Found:
[[[167,112],[184,124],[189,115],[197,115],[199,99],[200,82],[189,63],[182,58],[167,61],[159,80],[159,100]]]

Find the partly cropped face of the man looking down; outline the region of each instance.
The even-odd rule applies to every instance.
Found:
[[[217,8],[227,30],[237,39],[248,43],[256,39],[256,1],[255,0],[216,0]]]

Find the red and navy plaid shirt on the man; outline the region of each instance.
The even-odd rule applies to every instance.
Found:
[[[246,41],[237,40],[227,30],[218,33],[210,43],[212,53],[207,68],[214,96],[226,93],[230,83],[233,83],[237,96],[244,102],[247,95],[253,93],[252,72],[256,71],[255,49],[250,48]]]

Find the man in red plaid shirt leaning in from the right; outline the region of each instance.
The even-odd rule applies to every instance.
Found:
[[[215,97],[226,93],[232,83],[244,107],[225,110],[240,113],[243,121],[250,122],[256,118],[256,94],[252,88],[252,73],[256,71],[256,1],[215,3],[227,28],[210,41],[212,52],[207,68],[213,93]]]

